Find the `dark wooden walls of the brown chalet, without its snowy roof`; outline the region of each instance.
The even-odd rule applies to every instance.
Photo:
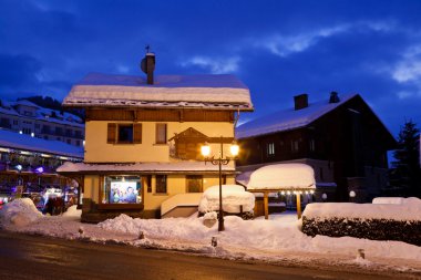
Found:
[[[258,135],[238,141],[240,155],[237,166],[312,160],[326,163],[312,166],[318,183],[337,184],[336,197],[348,200],[349,189],[367,189],[364,199],[378,195],[387,185],[387,152],[396,139],[360,95],[306,126]]]

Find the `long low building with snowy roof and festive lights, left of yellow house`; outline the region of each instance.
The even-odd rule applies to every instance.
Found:
[[[17,186],[33,193],[64,188],[69,179],[59,176],[55,168],[64,162],[82,160],[82,147],[0,129],[0,196],[10,196]]]

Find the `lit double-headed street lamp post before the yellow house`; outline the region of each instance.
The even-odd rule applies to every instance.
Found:
[[[233,144],[229,147],[230,154],[233,157],[225,157],[224,158],[224,138],[220,136],[220,147],[219,147],[219,156],[215,157],[210,155],[210,146],[209,144],[205,143],[205,145],[202,146],[201,152],[202,155],[205,157],[205,163],[209,162],[213,165],[218,165],[219,167],[219,215],[218,215],[218,231],[223,231],[225,229],[224,227],[224,209],[223,209],[223,185],[222,185],[222,166],[227,165],[233,158],[235,158],[238,155],[239,147],[238,145],[233,142]]]

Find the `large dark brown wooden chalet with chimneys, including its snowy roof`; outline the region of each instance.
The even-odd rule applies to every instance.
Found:
[[[254,120],[236,129],[242,153],[237,169],[304,163],[315,170],[317,200],[368,201],[388,184],[387,152],[396,139],[359,94],[309,103]],[[351,193],[351,196],[353,195]]]

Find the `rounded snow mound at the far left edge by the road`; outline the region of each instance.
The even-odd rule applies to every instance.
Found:
[[[30,198],[16,199],[0,210],[0,224],[6,228],[23,227],[40,218],[42,214]]]

